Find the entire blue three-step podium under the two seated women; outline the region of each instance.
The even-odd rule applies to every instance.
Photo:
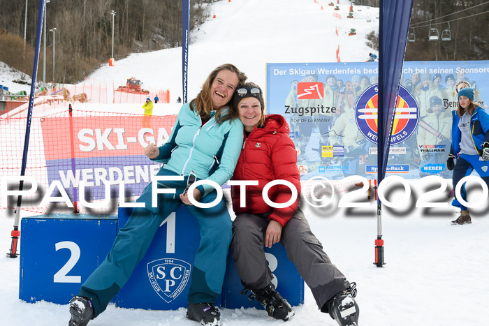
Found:
[[[103,262],[115,236],[131,215],[50,214],[22,218],[19,298],[67,304],[82,283]],[[199,225],[180,206],[156,232],[151,246],[114,301],[122,308],[176,310],[187,307],[191,272],[200,243]],[[293,306],[304,303],[304,281],[287,258],[282,244],[265,249],[279,293]],[[228,253],[222,295],[217,305],[228,309],[256,307],[241,295],[243,286]]]

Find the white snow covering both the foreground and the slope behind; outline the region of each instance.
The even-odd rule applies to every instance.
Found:
[[[225,62],[235,64],[247,73],[249,80],[265,88],[267,62],[335,62],[337,45],[341,48],[342,61],[365,61],[372,50],[365,45],[364,36],[377,27],[378,9],[355,7],[354,20],[338,20],[333,17],[328,2],[216,3],[217,18],[201,26],[191,38],[189,98],[197,94],[207,74]],[[341,0],[340,8],[345,18],[349,1]],[[335,34],[337,26],[341,29],[340,36]],[[347,36],[352,27],[357,35]],[[115,67],[99,69],[89,80],[112,82],[134,75],[145,85],[170,89],[174,101],[182,91],[180,64],[181,49],[132,54],[116,61]],[[1,74],[2,78],[6,77],[3,71]],[[103,110],[110,110],[108,106],[103,106]],[[416,198],[420,197],[425,184],[409,182]],[[463,226],[450,225],[456,216],[450,207],[416,208],[413,200],[402,209],[384,209],[387,265],[381,269],[372,265],[377,235],[373,202],[370,209],[338,209],[337,200],[325,209],[303,206],[326,253],[350,281],[357,282],[360,325],[458,326],[486,322],[483,311],[489,299],[488,205],[477,209],[472,225]],[[22,216],[27,215],[28,212],[22,212]],[[4,252],[10,248],[13,220],[12,212],[0,211],[0,249]],[[48,302],[28,304],[18,299],[19,261],[0,256],[1,324],[66,325],[68,306]],[[308,288],[305,304],[294,310],[295,317],[286,325],[336,325],[317,310]],[[222,309],[221,320],[228,326],[283,323],[256,309]],[[144,311],[111,305],[89,325],[197,324],[185,318],[185,309]]]

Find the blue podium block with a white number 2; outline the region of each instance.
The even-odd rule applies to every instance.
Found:
[[[117,218],[43,214],[22,218],[20,230],[19,298],[67,304],[112,248]]]

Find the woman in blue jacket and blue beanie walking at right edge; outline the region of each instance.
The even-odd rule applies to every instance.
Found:
[[[458,109],[452,116],[452,145],[446,167],[453,170],[453,188],[474,170],[489,186],[489,114],[474,103],[474,89],[465,87],[458,91]],[[465,186],[460,194],[467,201]],[[453,224],[472,223],[467,207],[457,199],[452,205],[460,207],[460,216]]]

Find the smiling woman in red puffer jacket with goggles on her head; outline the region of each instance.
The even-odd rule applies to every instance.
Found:
[[[263,251],[263,245],[271,247],[282,242],[287,256],[311,288],[319,309],[340,325],[358,325],[358,305],[353,299],[355,283],[346,281],[331,263],[298,208],[300,177],[288,124],[279,114],[264,114],[262,91],[252,82],[235,92],[233,105],[245,126],[245,141],[232,179],[258,181],[258,185],[246,187],[245,202],[240,202],[240,186],[231,188],[237,215],[231,247],[243,285],[269,316],[289,320],[294,315],[290,304],[272,284],[272,272]],[[276,179],[289,181],[289,186],[298,191],[295,202],[288,207],[271,207],[262,197],[265,185]],[[289,186],[272,186],[268,198],[276,203],[288,202],[292,195]]]

